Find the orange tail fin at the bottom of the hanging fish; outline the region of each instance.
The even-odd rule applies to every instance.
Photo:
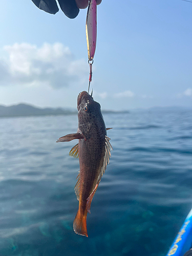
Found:
[[[81,214],[80,210],[77,211],[77,215],[73,222],[73,229],[76,234],[81,234],[82,236],[88,237],[87,231],[87,210],[84,212],[84,215]]]

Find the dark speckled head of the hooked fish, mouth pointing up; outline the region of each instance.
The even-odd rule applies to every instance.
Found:
[[[77,98],[78,122],[80,132],[87,137],[94,126],[104,127],[101,106],[86,91],[79,93]]]

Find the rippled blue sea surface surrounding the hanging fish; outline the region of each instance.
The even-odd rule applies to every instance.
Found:
[[[163,256],[192,207],[192,112],[103,115],[113,146],[88,214],[73,231],[77,116],[0,119],[1,256]]]

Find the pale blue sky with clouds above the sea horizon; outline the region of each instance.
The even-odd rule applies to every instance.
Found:
[[[89,82],[86,15],[1,3],[0,104],[76,108]],[[101,108],[191,108],[191,24],[192,3],[182,0],[102,0],[91,82]]]

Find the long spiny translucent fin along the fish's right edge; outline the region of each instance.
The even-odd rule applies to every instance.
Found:
[[[108,165],[110,163],[110,157],[111,157],[110,151],[113,150],[110,140],[111,139],[108,136],[105,136],[105,151],[104,151],[104,157],[103,157],[103,165],[100,170],[97,184],[96,184],[95,188],[93,189],[91,195],[87,199],[87,210],[89,211],[89,213],[90,213],[91,202],[92,202],[93,196],[95,195],[95,192],[98,188],[99,182],[101,181],[101,177],[103,176],[103,174],[105,172],[106,165]]]

